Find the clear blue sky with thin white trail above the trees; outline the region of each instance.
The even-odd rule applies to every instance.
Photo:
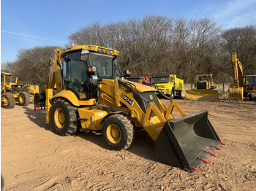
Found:
[[[256,25],[255,0],[1,0],[1,63],[18,50],[61,46],[67,37],[95,21],[102,24],[146,15],[203,18],[222,28]]]

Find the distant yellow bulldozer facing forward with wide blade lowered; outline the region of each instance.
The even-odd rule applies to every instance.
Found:
[[[215,101],[219,97],[217,87],[211,73],[197,74],[195,78],[195,89],[186,90],[185,99],[187,100],[208,100]]]

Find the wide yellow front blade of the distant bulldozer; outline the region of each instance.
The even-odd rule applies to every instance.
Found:
[[[187,100],[215,101],[218,97],[218,90],[212,89],[186,90],[185,92],[185,99]]]

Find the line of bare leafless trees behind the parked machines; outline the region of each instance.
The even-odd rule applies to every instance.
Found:
[[[233,52],[246,74],[256,74],[256,26],[222,30],[209,18],[147,15],[108,24],[97,21],[70,34],[68,42],[121,51],[119,62],[127,63],[130,58],[126,67],[133,76],[176,74],[192,83],[197,74],[211,72],[214,82],[232,82]],[[19,50],[16,61],[2,64],[2,70],[12,71],[21,82],[45,84],[52,50]]]

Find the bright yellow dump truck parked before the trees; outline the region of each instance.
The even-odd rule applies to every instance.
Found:
[[[176,77],[175,74],[153,75],[151,84],[156,85],[157,89],[170,98],[181,98],[184,90],[184,80]]]

